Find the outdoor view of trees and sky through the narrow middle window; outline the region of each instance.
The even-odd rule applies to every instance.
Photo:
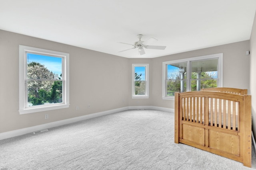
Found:
[[[135,83],[135,95],[145,95],[146,94],[146,81],[145,81],[145,66],[135,66],[134,68],[134,83]]]

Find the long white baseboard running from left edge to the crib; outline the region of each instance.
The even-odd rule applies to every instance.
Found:
[[[156,107],[156,106],[129,106],[129,107],[121,107],[121,108],[118,108],[118,109],[112,109],[112,110],[108,110],[108,111],[92,113],[92,114],[89,114],[89,115],[84,115],[84,116],[80,116],[80,117],[74,117],[74,118],[71,118],[71,119],[65,119],[65,120],[61,120],[61,121],[55,121],[55,122],[51,122],[51,123],[46,123],[46,124],[43,124],[43,125],[37,125],[37,126],[33,126],[33,127],[27,127],[27,128],[24,128],[24,129],[18,129],[18,130],[14,130],[14,131],[0,133],[0,140],[11,138],[11,137],[16,137],[16,136],[20,136],[20,135],[25,135],[27,133],[32,133],[32,132],[35,132],[35,131],[40,131],[42,129],[48,129],[48,128],[52,128],[52,127],[66,125],[66,124],[69,124],[69,123],[74,123],[74,122],[77,122],[77,121],[91,119],[91,118],[94,118],[94,117],[108,115],[108,114],[116,113],[116,112],[119,112],[119,111],[125,111],[125,110],[129,110],[129,109],[155,109],[155,110],[161,110],[161,111],[174,112],[174,109],[169,109],[169,108],[165,108],[165,107]]]

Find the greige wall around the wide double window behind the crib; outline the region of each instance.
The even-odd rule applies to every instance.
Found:
[[[170,106],[174,108],[174,101],[162,100],[163,61],[223,53],[223,87],[249,89],[250,57],[246,55],[246,51],[248,50],[249,41],[241,41],[238,43],[154,58],[152,60],[153,66],[151,67],[153,69],[151,73],[153,72],[152,74],[154,74],[154,80],[150,83],[150,86],[154,87],[154,93],[151,96],[152,104],[159,107]]]

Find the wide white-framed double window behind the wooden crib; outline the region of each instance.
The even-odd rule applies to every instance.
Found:
[[[163,62],[162,98],[175,92],[222,87],[223,53]]]

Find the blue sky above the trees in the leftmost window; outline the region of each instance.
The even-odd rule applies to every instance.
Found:
[[[61,57],[50,57],[45,55],[37,55],[37,54],[27,54],[27,63],[38,62],[43,64],[48,70],[52,71],[55,74],[62,73],[62,58]]]

